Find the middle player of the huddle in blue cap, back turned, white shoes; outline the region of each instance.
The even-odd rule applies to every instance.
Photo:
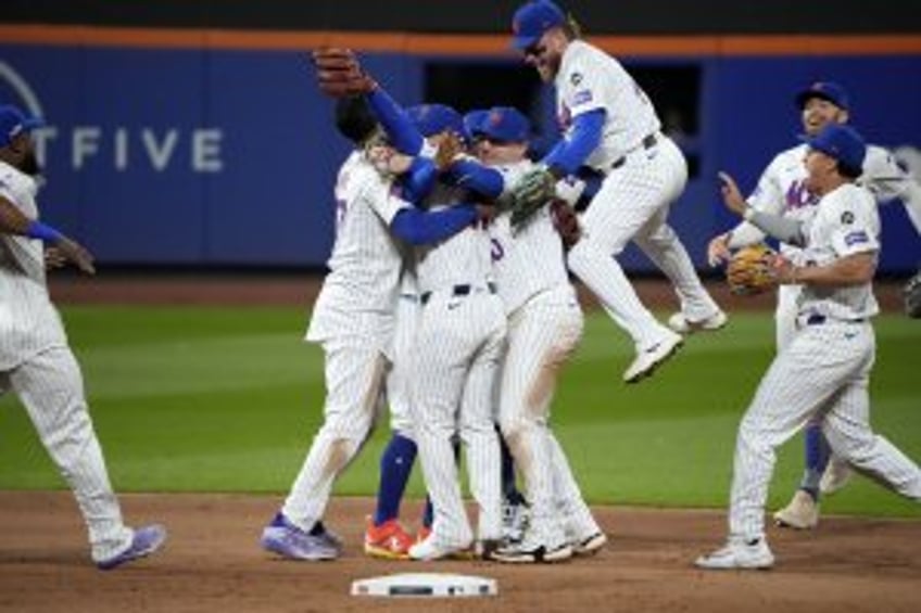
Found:
[[[460,115],[449,106],[415,106],[407,115],[436,148],[450,132],[464,133]],[[439,183],[426,203],[438,210],[460,196],[457,188]],[[470,226],[444,242],[417,248],[416,274],[422,309],[411,410],[434,522],[431,533],[409,548],[409,557],[434,560],[465,550],[474,540],[452,449],[455,434],[465,445],[470,489],[479,506],[477,539],[488,549],[501,537],[500,451],[491,391],[506,325],[492,279],[489,235],[482,228]]]

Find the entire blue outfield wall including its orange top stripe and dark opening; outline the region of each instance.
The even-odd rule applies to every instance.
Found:
[[[693,161],[673,225],[698,266],[732,222],[716,173],[750,189],[795,142],[792,95],[817,78],[851,92],[854,123],[921,176],[921,37],[597,37],[652,89]],[[504,36],[256,33],[0,25],[0,99],[42,114],[45,217],[102,263],[320,266],[346,143],[330,126],[305,52],[349,43],[395,98],[462,110],[513,102],[553,138],[552,97]],[[478,75],[483,75],[480,79]],[[883,269],[921,241],[884,209]],[[635,252],[628,268],[649,264]]]

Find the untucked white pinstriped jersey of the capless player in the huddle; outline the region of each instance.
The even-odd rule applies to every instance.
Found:
[[[403,253],[389,226],[409,206],[390,195],[390,188],[362,152],[353,152],[342,165],[336,183],[336,242],[308,341],[366,331],[389,343],[403,268]]]

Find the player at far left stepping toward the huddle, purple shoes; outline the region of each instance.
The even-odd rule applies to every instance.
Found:
[[[94,272],[92,256],[38,218],[40,173],[31,131],[42,125],[0,106],[0,394],[12,389],[64,475],[89,532],[92,561],[110,570],[156,551],[157,524],[131,529],[112,490],[83,374],[46,285],[42,245]]]

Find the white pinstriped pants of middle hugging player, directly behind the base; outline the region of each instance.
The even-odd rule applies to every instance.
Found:
[[[466,448],[470,490],[479,506],[478,537],[502,534],[501,461],[492,391],[505,340],[497,296],[482,290],[432,292],[422,307],[413,360],[413,411],[426,489],[434,507],[431,538],[466,547],[472,531],[464,509],[452,437]]]

